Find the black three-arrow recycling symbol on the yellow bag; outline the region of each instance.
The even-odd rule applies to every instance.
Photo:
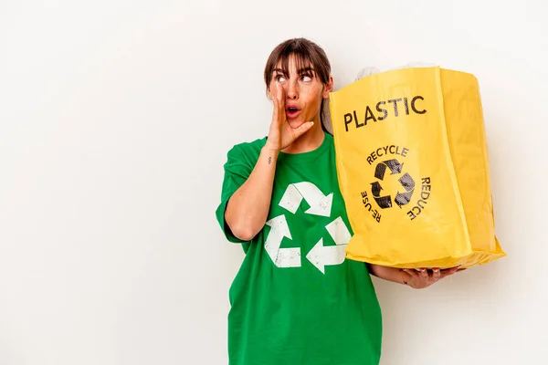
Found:
[[[387,160],[385,162],[379,162],[374,169],[374,177],[377,179],[374,183],[371,183],[371,193],[373,193],[374,201],[382,209],[392,207],[392,195],[383,193],[382,182],[385,181],[386,170],[390,171],[390,175],[399,175],[402,173],[404,164],[399,161]],[[415,181],[407,172],[404,173],[398,180],[402,190],[395,192],[394,203],[402,208],[402,205],[406,205],[411,201],[413,192],[415,189]]]

